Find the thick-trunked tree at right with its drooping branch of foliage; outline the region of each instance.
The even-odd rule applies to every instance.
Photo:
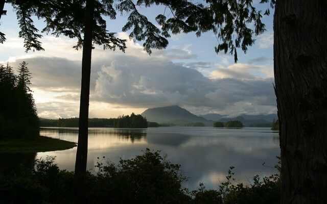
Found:
[[[190,32],[180,25],[197,24],[196,34],[213,30],[221,43],[216,52],[246,52],[252,34],[265,31],[262,12],[251,0],[207,0],[213,19],[188,21],[193,12],[160,22],[164,30]],[[275,7],[274,75],[282,158],[282,203],[324,203],[327,198],[327,2],[261,0]],[[264,14],[269,15],[267,9]],[[203,19],[207,19],[203,22]],[[254,30],[248,28],[253,22]],[[215,24],[211,28],[208,24]]]

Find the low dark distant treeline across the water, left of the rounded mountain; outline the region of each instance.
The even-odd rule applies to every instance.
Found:
[[[44,119],[40,118],[40,126],[42,127],[78,127],[79,118],[59,118]],[[157,123],[156,123],[157,124]],[[155,123],[151,123],[152,126]],[[119,116],[118,118],[89,118],[89,127],[128,127],[128,128],[146,128],[148,121],[142,115]]]

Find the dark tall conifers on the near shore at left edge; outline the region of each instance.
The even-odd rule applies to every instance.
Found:
[[[39,118],[35,107],[28,63],[21,62],[18,75],[13,68],[0,64],[0,138],[36,138]]]

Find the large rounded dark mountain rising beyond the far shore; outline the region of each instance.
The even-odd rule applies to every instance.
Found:
[[[176,125],[184,125],[191,122],[202,122],[206,126],[212,126],[214,121],[207,120],[203,117],[196,116],[188,110],[179,106],[168,106],[160,108],[150,108],[141,113],[148,121],[158,123],[174,123]]]

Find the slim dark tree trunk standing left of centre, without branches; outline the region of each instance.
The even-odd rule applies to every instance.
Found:
[[[80,98],[80,115],[78,144],[76,152],[75,175],[86,172],[87,139],[88,139],[88,106],[90,93],[91,53],[92,53],[92,22],[94,19],[94,2],[86,1],[85,28],[82,57],[82,83]]]

